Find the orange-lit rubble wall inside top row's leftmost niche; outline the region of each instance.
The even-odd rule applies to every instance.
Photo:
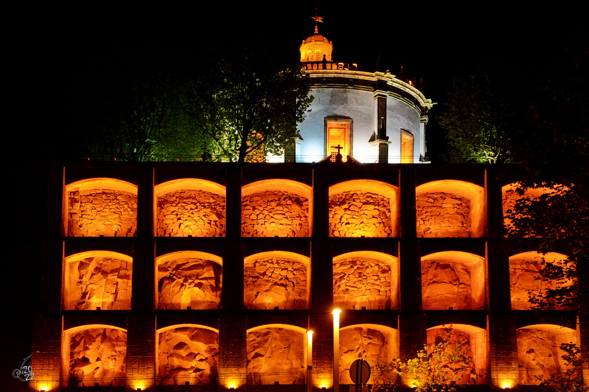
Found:
[[[67,195],[70,237],[134,237],[137,195],[120,190],[71,190]]]

